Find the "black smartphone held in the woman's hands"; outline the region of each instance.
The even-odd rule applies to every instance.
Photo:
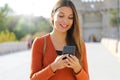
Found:
[[[64,46],[62,54],[75,55],[76,46]],[[66,59],[64,57],[63,59]]]

